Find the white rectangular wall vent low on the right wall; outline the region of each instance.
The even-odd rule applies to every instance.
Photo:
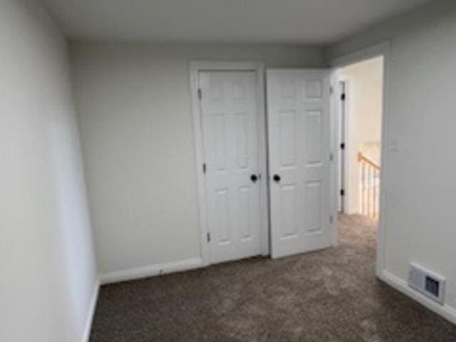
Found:
[[[439,276],[431,271],[427,271],[427,269],[418,264],[410,264],[408,285],[430,299],[437,301],[439,304],[443,304],[445,302],[446,282],[446,279],[442,276]]]

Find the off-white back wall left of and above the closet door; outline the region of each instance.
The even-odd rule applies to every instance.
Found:
[[[321,66],[318,48],[73,43],[102,273],[199,258],[189,61]]]

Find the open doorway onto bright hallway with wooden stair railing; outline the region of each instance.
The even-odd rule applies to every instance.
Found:
[[[359,245],[366,250],[375,250],[376,246],[376,271],[380,274],[385,55],[350,62],[339,64],[335,73],[339,145],[337,232],[341,244]]]

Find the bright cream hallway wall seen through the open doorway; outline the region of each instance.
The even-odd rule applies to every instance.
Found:
[[[360,168],[358,152],[366,142],[381,138],[383,113],[383,57],[346,66],[338,71],[338,79],[346,81],[346,212],[361,212],[359,203]],[[379,162],[378,153],[368,155]]]

